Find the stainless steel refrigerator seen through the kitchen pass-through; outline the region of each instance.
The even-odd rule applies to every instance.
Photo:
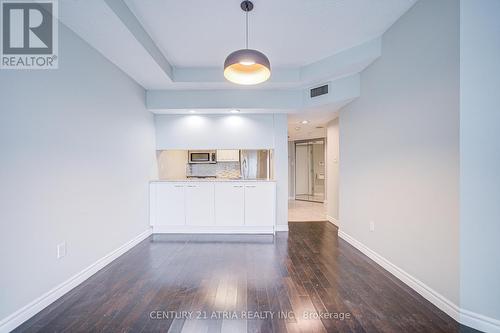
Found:
[[[271,154],[269,150],[241,150],[241,178],[271,179]]]

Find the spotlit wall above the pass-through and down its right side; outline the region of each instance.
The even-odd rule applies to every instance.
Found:
[[[157,149],[274,149],[276,220],[288,223],[286,114],[156,115]]]

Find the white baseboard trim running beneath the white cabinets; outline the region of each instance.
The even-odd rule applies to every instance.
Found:
[[[154,225],[154,234],[273,234],[273,226]]]

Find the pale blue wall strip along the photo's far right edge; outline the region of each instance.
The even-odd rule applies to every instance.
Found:
[[[500,1],[460,8],[460,302],[500,320]]]

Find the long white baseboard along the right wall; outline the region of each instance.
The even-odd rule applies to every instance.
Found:
[[[334,222],[332,222],[334,223]],[[389,260],[385,259],[375,251],[368,248],[363,243],[354,239],[345,232],[339,230],[339,237],[354,246],[361,253],[366,255],[368,258],[375,261],[377,264],[382,266],[389,273],[397,277],[407,286],[415,290],[426,300],[434,304],[436,307],[441,309],[447,315],[455,319],[457,322],[472,327],[474,329],[487,332],[487,333],[500,333],[500,321],[489,318],[465,309],[461,309],[458,305],[418,280],[414,276],[408,274],[403,269],[391,263]]]

